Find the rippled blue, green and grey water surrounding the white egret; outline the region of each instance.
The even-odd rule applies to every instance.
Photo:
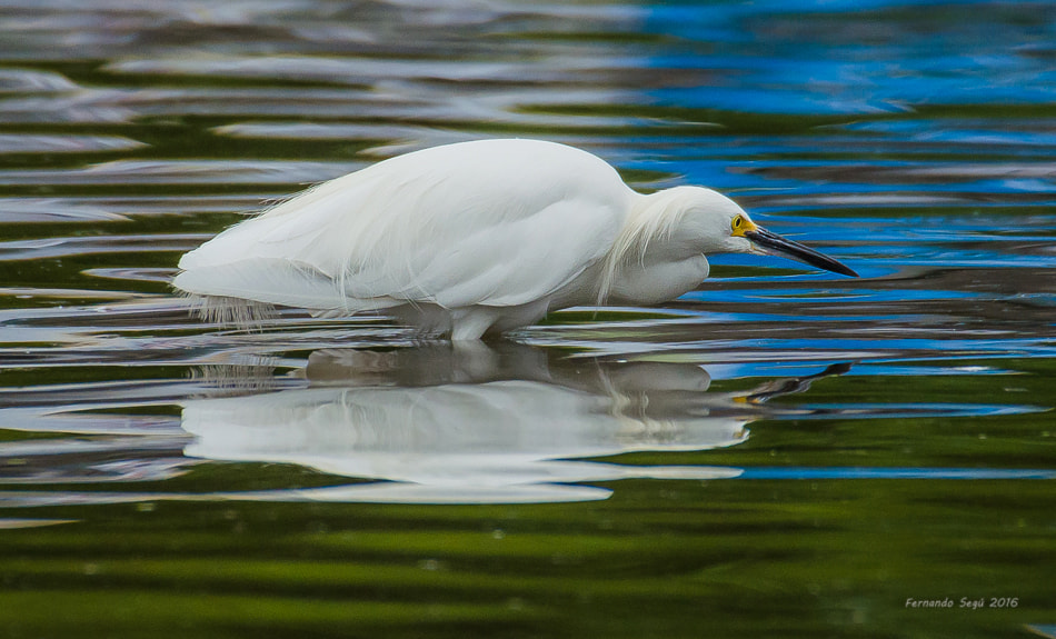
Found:
[[[0,33],[3,636],[1056,636],[1056,7],[16,0]],[[457,347],[169,289],[261,202],[499,136],[863,278],[725,257]]]

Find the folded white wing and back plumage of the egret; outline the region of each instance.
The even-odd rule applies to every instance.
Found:
[[[180,267],[209,268],[196,282],[209,286],[191,292],[266,291],[262,301],[306,308],[517,306],[601,259],[632,194],[611,167],[570,147],[454,144],[320,184],[220,233]],[[295,287],[310,290],[311,303]],[[241,297],[262,299],[253,294]]]

